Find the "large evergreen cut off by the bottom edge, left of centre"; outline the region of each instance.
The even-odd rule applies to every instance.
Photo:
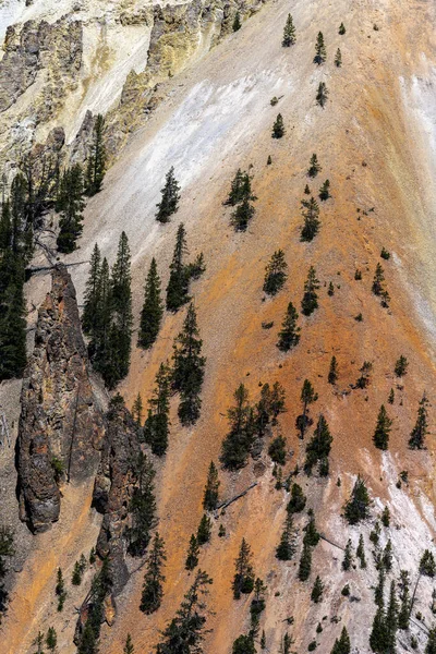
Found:
[[[201,654],[206,625],[204,596],[213,580],[198,570],[175,617],[169,622],[158,644],[157,654]]]

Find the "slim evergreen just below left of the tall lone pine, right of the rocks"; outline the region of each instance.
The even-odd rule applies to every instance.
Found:
[[[161,363],[156,375],[154,396],[148,400],[148,415],[144,425],[144,440],[154,455],[162,457],[168,448],[170,432],[170,371]]]

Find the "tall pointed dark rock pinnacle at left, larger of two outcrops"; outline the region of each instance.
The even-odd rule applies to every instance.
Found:
[[[39,308],[35,348],[21,395],[17,440],[20,517],[34,532],[59,518],[62,480],[95,472],[104,417],[88,375],[75,289],[57,266]]]

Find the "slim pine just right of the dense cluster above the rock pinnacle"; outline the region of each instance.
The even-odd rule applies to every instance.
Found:
[[[144,304],[141,312],[141,324],[137,344],[148,350],[156,341],[164,315],[160,299],[160,279],[157,274],[156,259],[153,257],[144,290]]]

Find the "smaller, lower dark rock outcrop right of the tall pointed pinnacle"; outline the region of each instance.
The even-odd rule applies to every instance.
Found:
[[[137,485],[136,465],[141,453],[137,427],[121,399],[112,400],[101,459],[94,486],[93,506],[104,513],[96,552],[110,562],[113,594],[125,585],[126,532],[130,525],[130,500]]]

